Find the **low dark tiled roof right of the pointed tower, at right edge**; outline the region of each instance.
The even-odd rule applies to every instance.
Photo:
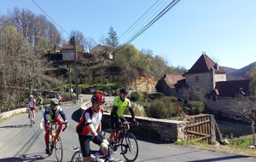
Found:
[[[216,82],[215,89],[218,90],[219,97],[236,97],[242,92],[249,95],[249,83],[249,79]]]

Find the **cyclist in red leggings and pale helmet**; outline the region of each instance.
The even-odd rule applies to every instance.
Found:
[[[44,142],[45,142],[45,153],[50,153],[49,151],[49,129],[51,123],[63,123],[61,118],[59,117],[61,114],[61,118],[67,123],[67,117],[62,108],[59,106],[59,100],[54,98],[51,99],[50,105],[45,107],[44,111],[44,128],[45,128],[45,135],[44,135]],[[59,129],[57,130],[58,135],[61,134],[62,124],[60,124]]]

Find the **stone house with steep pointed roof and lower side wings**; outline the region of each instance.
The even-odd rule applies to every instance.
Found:
[[[249,95],[249,80],[227,81],[224,69],[202,54],[189,71],[183,75],[166,74],[155,86],[158,92],[177,98],[183,97],[184,88],[193,92],[193,100],[201,95],[208,110],[230,116],[226,107],[237,95]]]

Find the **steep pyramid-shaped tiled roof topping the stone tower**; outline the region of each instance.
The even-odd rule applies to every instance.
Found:
[[[206,54],[201,55],[201,57],[195,62],[193,67],[189,69],[186,74],[211,72],[212,68],[215,69],[215,73],[226,73],[218,64],[213,62]]]

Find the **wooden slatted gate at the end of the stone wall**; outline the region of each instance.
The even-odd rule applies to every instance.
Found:
[[[187,141],[215,142],[216,125],[213,115],[190,117],[186,126]]]

